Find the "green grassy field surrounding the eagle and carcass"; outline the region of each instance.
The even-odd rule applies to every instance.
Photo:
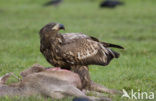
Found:
[[[100,9],[100,0],[64,1],[57,8],[44,7],[46,0],[0,1],[0,75],[19,75],[35,63],[50,66],[39,51],[38,32],[49,22],[60,22],[65,25],[65,32],[83,32],[125,47],[117,50],[121,57],[110,65],[90,66],[92,80],[129,93],[134,89],[156,94],[156,1],[125,0],[125,5],[116,9]],[[107,96],[113,101],[134,101]],[[40,101],[35,97],[0,100]]]

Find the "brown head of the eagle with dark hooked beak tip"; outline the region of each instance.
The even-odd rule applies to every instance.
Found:
[[[45,25],[41,30],[40,30],[40,36],[53,36],[56,35],[58,33],[59,30],[65,30],[65,27],[63,24],[59,24],[59,23],[55,23],[55,22],[51,22],[47,25]]]

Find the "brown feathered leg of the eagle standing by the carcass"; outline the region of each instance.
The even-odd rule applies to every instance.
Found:
[[[91,87],[91,79],[87,66],[72,66],[72,71],[77,73],[80,76],[82,82],[82,89],[90,89]]]

